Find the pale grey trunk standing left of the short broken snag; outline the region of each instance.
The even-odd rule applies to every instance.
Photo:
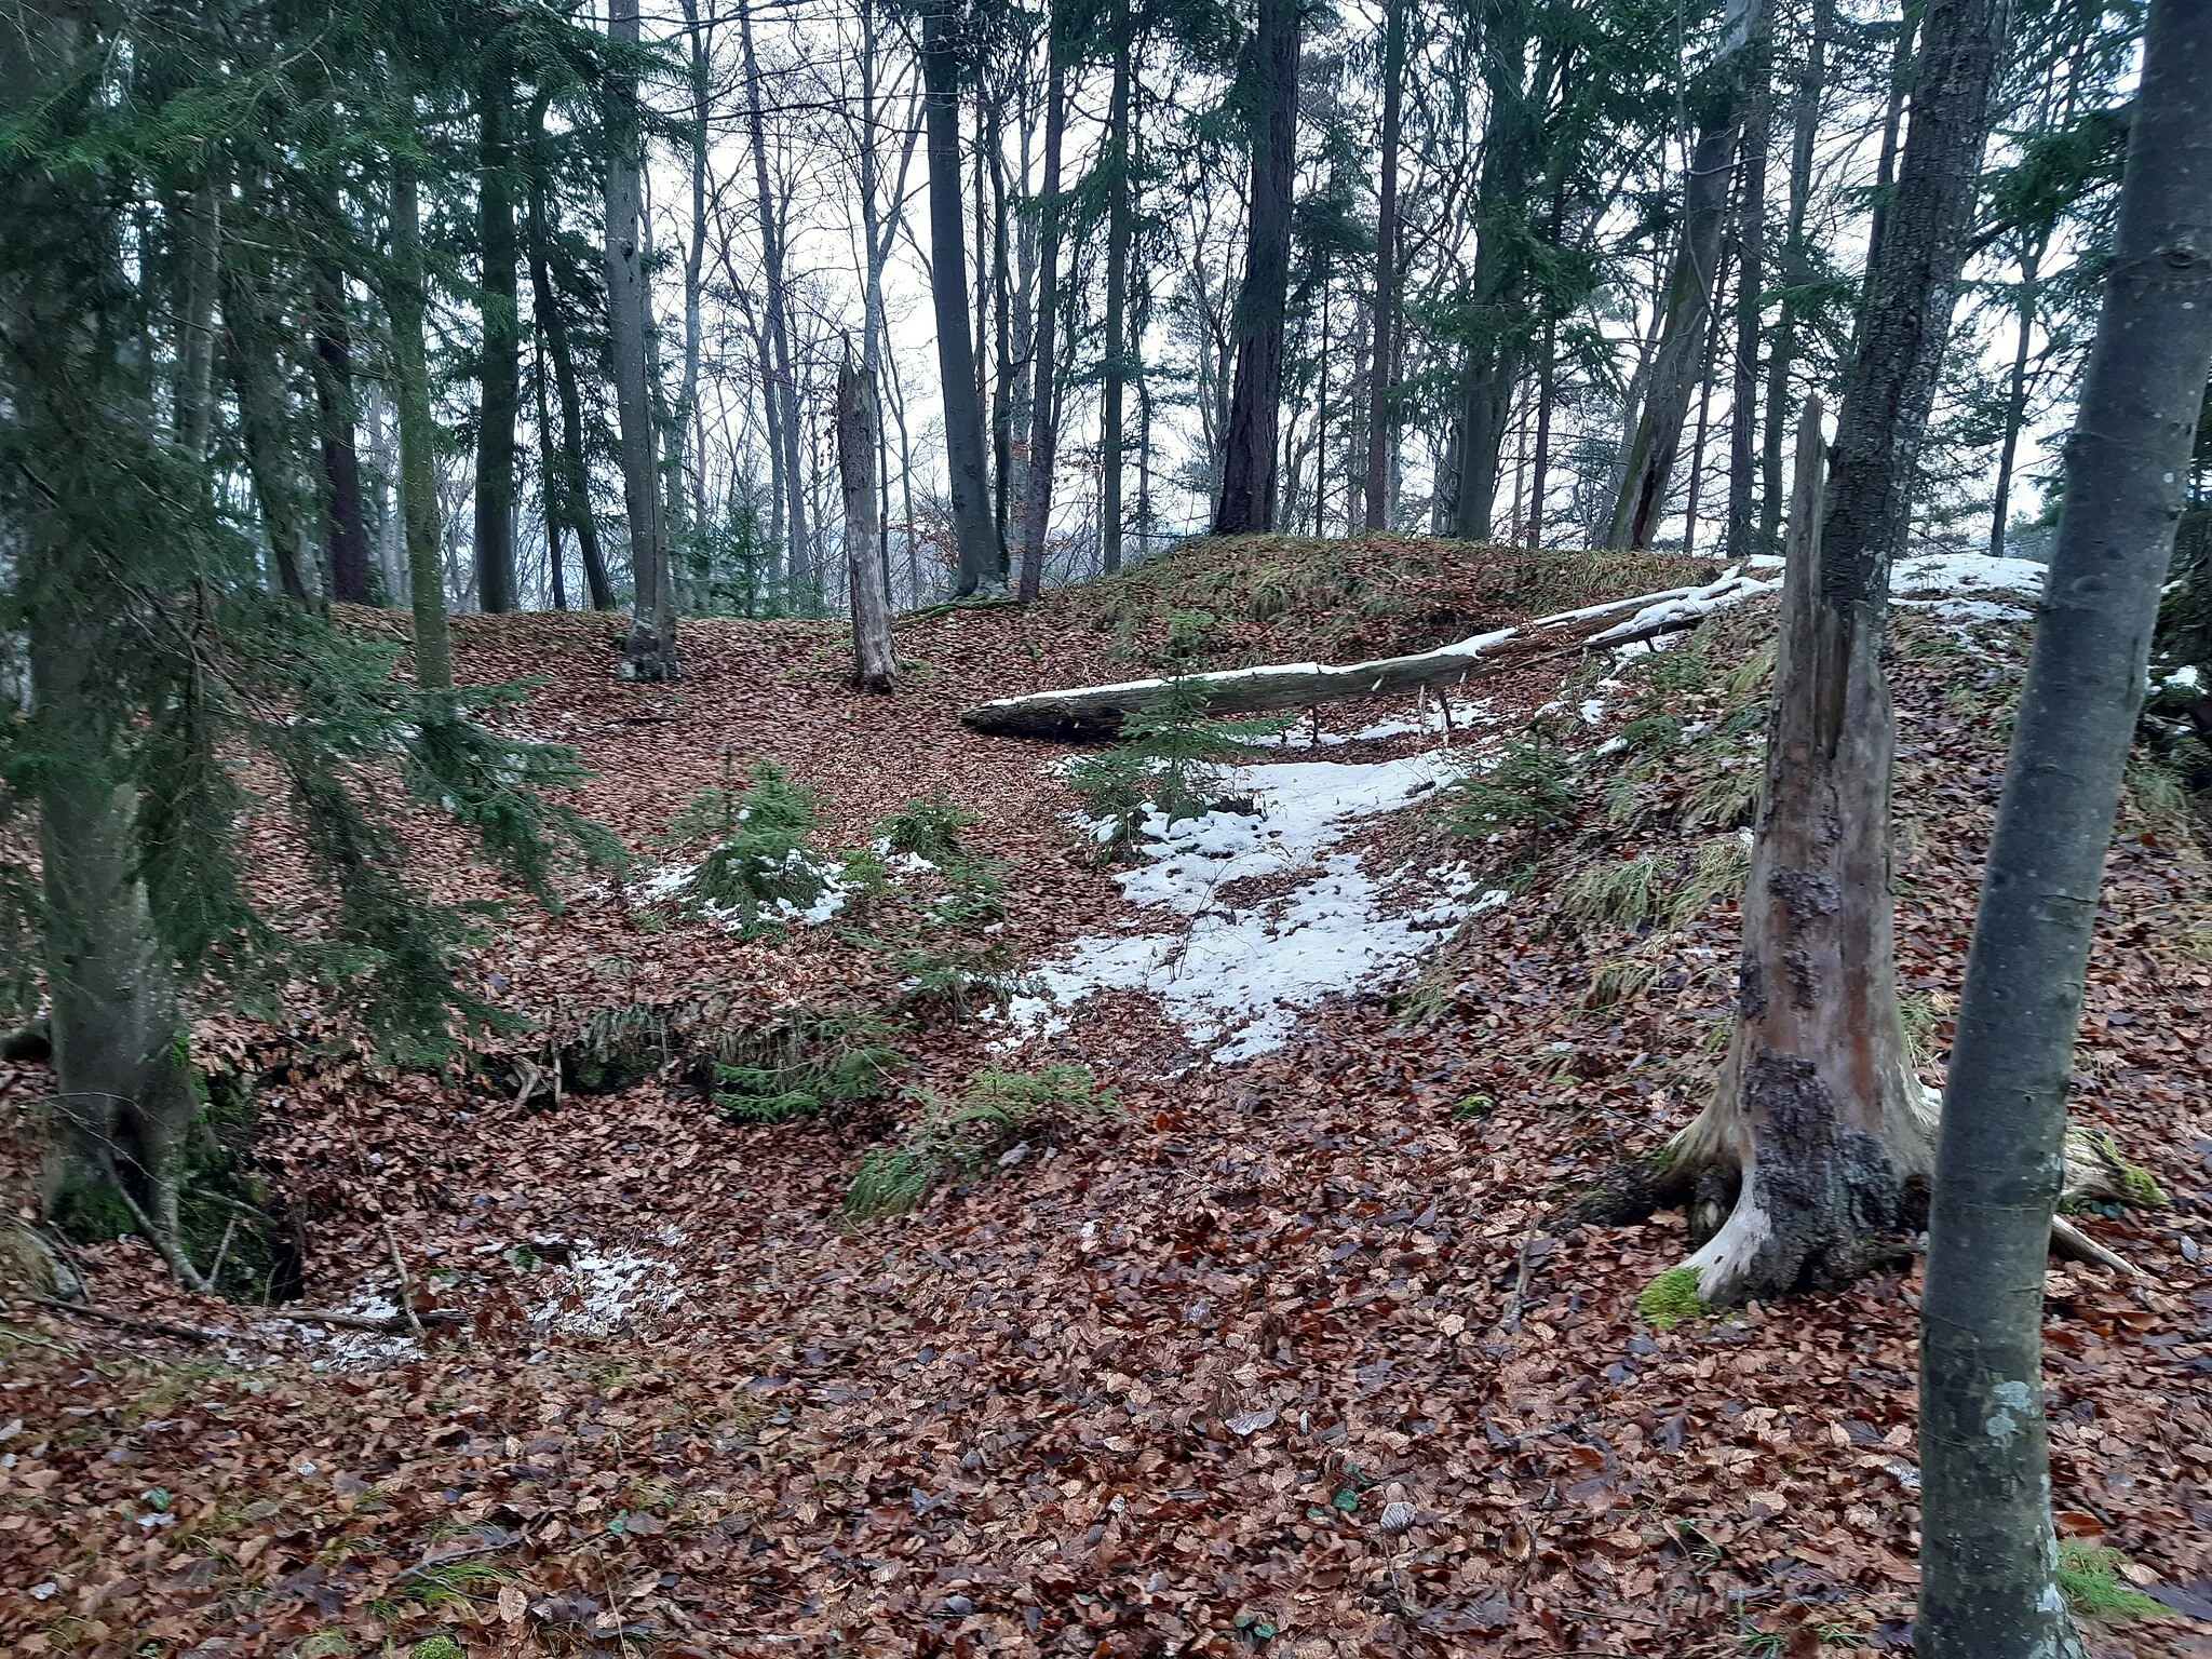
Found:
[[[608,38],[637,44],[637,0],[611,0]],[[630,639],[624,679],[677,679],[677,619],[670,593],[668,538],[661,533],[661,491],[653,467],[653,385],[646,374],[646,336],[653,294],[639,239],[644,139],[637,82],[615,86],[606,122],[606,332],[615,356],[615,416],[622,427],[622,498],[630,518]]]

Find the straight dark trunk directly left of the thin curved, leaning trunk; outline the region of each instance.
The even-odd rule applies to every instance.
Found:
[[[513,97],[507,46],[487,51],[478,88],[476,221],[482,254],[482,400],[476,411],[476,599],[515,608],[515,407],[522,334],[515,312]]]

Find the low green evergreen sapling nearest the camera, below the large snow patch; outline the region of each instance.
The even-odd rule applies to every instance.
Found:
[[[987,1066],[956,1097],[920,1093],[916,1115],[896,1146],[876,1146],[860,1159],[845,1190],[845,1214],[872,1221],[916,1210],[947,1179],[973,1175],[991,1161],[1011,1164],[1020,1146],[1055,1135],[1075,1117],[1108,1113],[1115,1091],[1091,1066],[1000,1071]]]

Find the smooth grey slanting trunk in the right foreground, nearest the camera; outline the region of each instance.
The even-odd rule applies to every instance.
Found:
[[[2079,1652],[2051,1535],[2044,1254],[2097,889],[2212,369],[2208,106],[2212,9],[2152,0],[1936,1157],[1916,1630],[1929,1659]]]

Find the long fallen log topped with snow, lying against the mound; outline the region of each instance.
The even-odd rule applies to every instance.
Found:
[[[1225,668],[1210,675],[1186,675],[1183,686],[1206,688],[1208,714],[1259,714],[1274,708],[1312,708],[1343,703],[1356,697],[1409,692],[1422,686],[1467,684],[1509,668],[1522,668],[1544,657],[1559,657],[1595,646],[1626,646],[1666,633],[1694,628],[1714,611],[1772,593],[1778,582],[1728,571],[1714,582],[1666,593],[1639,593],[1632,599],[1562,611],[1553,617],[1515,628],[1495,628],[1455,639],[1436,650],[1409,657],[1378,657],[1356,664],[1274,664],[1263,668]],[[1630,615],[1619,622],[1624,611]],[[1119,686],[1077,686],[1073,690],[1000,697],[960,712],[960,723],[989,737],[1031,737],[1053,743],[1095,743],[1121,730],[1121,721],[1159,701],[1166,679],[1130,679]]]

